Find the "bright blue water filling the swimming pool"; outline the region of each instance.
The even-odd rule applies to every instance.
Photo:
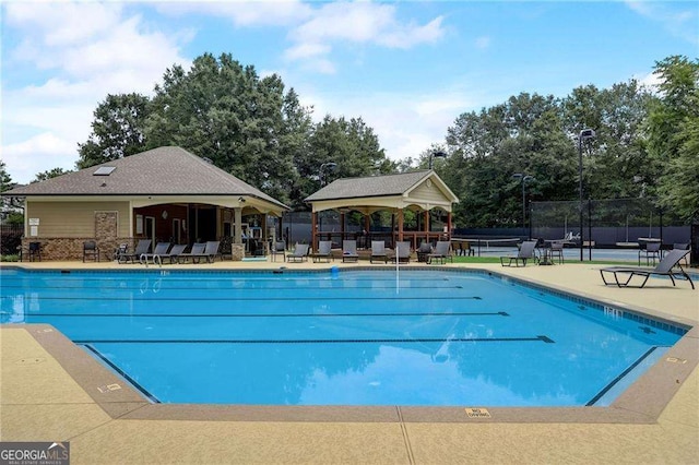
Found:
[[[0,273],[163,403],[608,405],[685,332],[463,271]]]

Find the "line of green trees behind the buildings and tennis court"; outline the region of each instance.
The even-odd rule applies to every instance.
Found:
[[[657,90],[630,80],[580,86],[562,98],[511,96],[459,115],[442,144],[393,162],[362,117],[313,122],[313,109],[279,75],[261,78],[229,53],[205,53],[189,70],[166,70],[153,97],[108,95],[79,144],[76,168],[179,145],[307,210],[304,199],[323,181],[425,169],[433,159],[461,200],[457,227],[508,227],[521,224],[523,177],[528,201],[578,199],[582,158],[585,199],[651,198],[687,222],[699,220],[699,61],[667,57],[655,73]],[[579,143],[587,129],[594,138]],[[321,172],[328,164],[335,169]]]

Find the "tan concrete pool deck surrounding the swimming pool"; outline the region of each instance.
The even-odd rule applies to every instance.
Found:
[[[340,261],[225,261],[181,267],[307,270],[333,265],[356,266]],[[111,262],[22,266],[142,269]],[[667,281],[651,278],[643,289],[619,289],[602,284],[600,265],[585,263],[519,269],[433,266],[489,270],[666,320],[699,322],[699,289],[692,290],[686,282],[673,287]],[[366,412],[322,407],[319,415],[308,407],[253,407],[257,412],[251,415],[230,406],[168,408],[144,403],[130,389],[115,388],[114,375],[49,326],[0,327],[0,440],[70,441],[71,464],[699,462],[697,326],[614,408],[489,408],[489,418],[469,418],[463,408],[462,418],[453,417],[454,409],[440,418],[404,407]],[[643,389],[635,389],[637,384]]]

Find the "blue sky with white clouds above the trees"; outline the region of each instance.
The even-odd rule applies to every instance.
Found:
[[[107,94],[152,95],[166,68],[230,52],[277,73],[317,120],[362,117],[392,159],[466,111],[566,96],[699,56],[696,1],[5,1],[1,157],[16,182],[72,169]]]

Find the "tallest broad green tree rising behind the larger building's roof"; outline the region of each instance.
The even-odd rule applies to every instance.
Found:
[[[149,147],[179,145],[220,168],[288,201],[295,178],[293,128],[304,130],[304,109],[284,93],[277,75],[260,79],[229,53],[205,53],[186,72],[175,65],[156,85],[146,121]],[[299,120],[301,118],[301,120]],[[294,126],[296,124],[296,126]]]

